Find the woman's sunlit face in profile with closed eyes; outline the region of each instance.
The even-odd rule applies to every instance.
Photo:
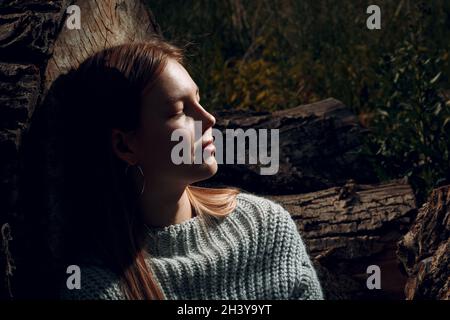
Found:
[[[135,160],[141,165],[147,183],[187,185],[213,176],[217,171],[215,149],[213,144],[209,147],[205,144],[213,139],[212,127],[216,120],[201,106],[199,89],[186,69],[176,60],[169,59],[153,87],[144,93],[142,101],[140,128],[134,135],[133,145]],[[194,122],[197,126],[201,123],[197,136]],[[192,160],[194,153],[199,152],[198,148],[202,150],[201,154],[205,152],[207,156],[201,164],[174,163],[172,150],[181,141],[171,141],[175,130],[189,146]]]

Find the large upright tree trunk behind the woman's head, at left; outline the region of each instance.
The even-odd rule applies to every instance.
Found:
[[[65,25],[66,9],[72,4],[81,10],[79,30],[70,30]],[[28,144],[33,147],[26,153],[32,157],[31,162],[36,162],[35,169],[43,166],[39,162],[48,157],[45,151],[51,149],[51,141],[45,140],[48,114],[39,115],[49,87],[61,73],[76,67],[91,53],[124,42],[145,41],[155,34],[160,34],[159,27],[140,0],[1,1],[0,228],[8,234],[0,239],[3,248],[0,251],[0,299],[11,298],[17,291],[32,295],[32,284],[27,285],[27,281],[35,280],[38,270],[34,272],[33,268],[39,267],[30,264],[27,268],[27,260],[48,258],[41,252],[48,246],[47,240],[40,238],[42,228],[46,227],[42,219],[48,212],[39,211],[38,207],[52,210],[52,194],[50,199],[36,199],[44,203],[34,210],[23,210],[19,207],[19,191],[25,183],[19,181],[19,172],[23,167],[23,145],[27,143],[27,136],[32,136],[28,140],[33,141]],[[38,120],[41,123],[34,125]],[[34,129],[30,128],[31,122]],[[49,186],[54,170],[51,162],[47,165],[50,168],[39,168],[42,177],[27,174],[22,177],[26,177],[27,183],[34,178],[43,179],[44,185]],[[31,172],[30,169],[27,173]],[[39,194],[41,189],[34,191]],[[18,281],[11,279],[14,261],[17,268],[13,274]],[[49,288],[43,284],[35,289],[45,297]]]

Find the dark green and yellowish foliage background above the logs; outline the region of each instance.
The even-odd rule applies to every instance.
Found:
[[[408,176],[421,199],[448,178],[450,1],[148,0],[187,46],[209,109],[276,110],[343,101],[372,134],[380,178]]]

